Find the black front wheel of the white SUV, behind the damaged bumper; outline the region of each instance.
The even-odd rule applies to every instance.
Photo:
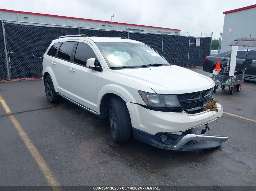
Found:
[[[127,106],[120,97],[112,97],[108,104],[111,137],[115,142],[128,141],[131,137],[131,118]]]

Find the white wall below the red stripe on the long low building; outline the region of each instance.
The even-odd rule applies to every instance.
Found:
[[[143,30],[145,33],[166,33],[179,35],[179,30],[170,30],[170,29],[161,29],[154,27],[143,27],[143,26],[134,26],[134,25],[125,25],[125,24],[115,24],[108,22],[100,21],[87,21],[81,19],[71,19],[71,18],[61,18],[53,16],[44,16],[37,14],[26,14],[26,13],[16,13],[8,11],[0,11],[3,20],[9,21],[26,21],[33,23],[43,23],[43,24],[56,24],[56,25],[66,25],[66,26],[75,26],[75,27],[86,27],[86,28],[97,28],[97,29],[108,29],[108,30],[121,30],[128,31],[127,29],[137,29]],[[28,18],[24,18],[28,17]],[[104,26],[103,26],[104,25]]]

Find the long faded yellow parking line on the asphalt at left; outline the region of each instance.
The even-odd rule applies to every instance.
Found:
[[[2,103],[2,106],[5,109],[5,112],[9,115],[9,117],[12,121],[12,124],[15,126],[16,130],[18,131],[18,134],[22,138],[22,140],[25,143],[26,147],[28,148],[30,154],[35,159],[35,162],[37,163],[38,167],[44,174],[48,184],[50,186],[53,186],[52,187],[53,190],[59,190],[58,186],[60,186],[60,183],[58,182],[58,180],[52,173],[52,170],[46,164],[45,160],[42,158],[42,156],[39,154],[39,152],[35,148],[35,145],[32,143],[32,141],[30,140],[30,138],[28,137],[26,132],[22,129],[22,127],[19,124],[19,122],[17,121],[17,119],[13,116],[11,110],[9,109],[9,107],[7,106],[7,104],[5,103],[5,100],[2,98],[1,95],[0,95],[0,102]]]

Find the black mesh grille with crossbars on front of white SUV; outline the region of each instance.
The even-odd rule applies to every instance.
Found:
[[[212,88],[188,93],[188,94],[178,94],[181,102],[181,106],[187,113],[197,113],[200,112],[212,98]]]

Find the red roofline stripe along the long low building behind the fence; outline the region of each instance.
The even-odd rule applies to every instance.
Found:
[[[14,13],[25,13],[25,14],[35,14],[35,15],[42,15],[42,16],[48,16],[48,17],[67,18],[67,19],[78,19],[78,20],[84,20],[84,21],[95,21],[95,22],[102,22],[102,23],[111,23],[111,21],[101,21],[101,20],[94,20],[94,19],[67,17],[67,16],[60,16],[60,15],[53,15],[53,14],[32,13],[32,12],[25,12],[25,11],[14,11],[14,10],[8,10],[8,9],[0,9],[0,11],[7,11],[7,12],[14,12]],[[112,23],[113,24],[125,24],[125,25],[138,26],[138,27],[151,27],[151,28],[159,28],[159,29],[168,29],[168,30],[178,30],[178,31],[181,31],[180,29],[172,29],[172,28],[164,28],[164,27],[153,27],[153,26],[140,25],[140,24],[118,23],[118,22],[112,22]]]

